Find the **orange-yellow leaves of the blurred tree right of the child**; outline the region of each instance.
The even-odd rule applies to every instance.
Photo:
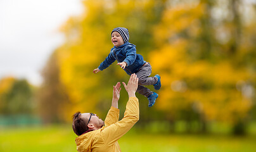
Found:
[[[170,115],[191,108],[206,120],[234,123],[252,107],[251,99],[236,88],[240,81],[253,79],[252,73],[237,68],[231,60],[193,61],[188,55],[189,41],[177,37],[183,30],[193,30],[188,34],[198,36],[202,32],[198,20],[204,11],[202,3],[168,9],[155,28],[158,47],[150,53],[150,63],[162,81],[157,108]]]

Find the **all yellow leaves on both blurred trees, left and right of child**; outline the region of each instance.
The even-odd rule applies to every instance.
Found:
[[[77,18],[70,18],[61,27],[66,42],[58,49],[60,77],[73,103],[68,115],[75,111],[95,110],[100,101],[104,102],[99,94],[111,96],[111,89],[105,89],[107,86],[102,84],[112,83],[113,77],[127,79],[124,71],[114,66],[115,63],[97,74],[93,69],[105,60],[113,47],[112,29],[144,30],[146,25],[140,25],[138,21],[142,18],[153,20],[155,4],[153,0],[84,1],[86,11]],[[251,99],[245,97],[237,85],[255,78],[255,73],[242,66],[236,67],[230,59],[193,58],[193,51],[201,46],[196,42],[191,45],[191,41],[204,38],[200,36],[205,32],[202,20],[206,11],[207,6],[203,2],[177,4],[165,9],[159,24],[153,28],[151,42],[154,44],[151,46],[157,49],[148,53],[146,60],[150,62],[152,72],[161,75],[162,89],[158,91],[158,104],[155,106],[173,116],[177,115],[176,111],[192,109],[206,120],[233,123],[246,117],[252,107]],[[193,46],[196,48],[189,52]],[[252,49],[242,46],[238,55],[245,54],[248,48]]]

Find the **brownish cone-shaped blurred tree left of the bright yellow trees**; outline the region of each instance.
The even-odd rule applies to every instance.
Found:
[[[60,66],[54,52],[42,70],[43,82],[37,90],[37,109],[44,123],[60,123],[69,120],[65,115],[70,106],[65,87],[60,82]]]

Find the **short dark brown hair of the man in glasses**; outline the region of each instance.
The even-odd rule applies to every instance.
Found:
[[[73,115],[72,128],[75,134],[77,134],[77,136],[82,135],[84,132],[88,130],[87,122],[86,120],[80,118],[80,114],[81,114],[80,111],[78,111]]]

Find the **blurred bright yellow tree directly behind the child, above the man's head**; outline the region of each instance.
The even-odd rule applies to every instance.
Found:
[[[155,47],[151,39],[153,27],[164,7],[165,1],[84,1],[85,12],[70,18],[61,28],[66,41],[58,49],[61,82],[67,87],[73,105],[69,115],[75,111],[93,111],[105,116],[111,105],[112,86],[129,80],[129,75],[116,63],[103,72],[93,73],[113,47],[111,31],[115,27],[128,28],[129,42],[147,60],[148,52]],[[119,102],[122,108],[127,95],[121,94],[124,94]],[[141,101],[146,106],[144,99]]]

